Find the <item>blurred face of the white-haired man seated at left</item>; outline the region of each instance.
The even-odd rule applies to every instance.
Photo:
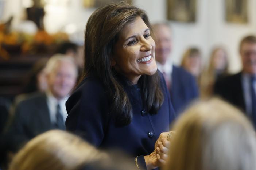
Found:
[[[55,98],[65,98],[74,88],[77,79],[77,70],[74,64],[60,61],[53,70],[47,74],[48,87]]]

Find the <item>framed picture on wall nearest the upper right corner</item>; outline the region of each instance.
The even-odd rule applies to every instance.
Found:
[[[226,21],[231,23],[247,23],[247,1],[248,0],[225,0]]]

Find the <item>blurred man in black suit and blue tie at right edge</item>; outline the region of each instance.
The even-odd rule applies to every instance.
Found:
[[[243,110],[256,127],[256,37],[240,43],[241,72],[224,77],[214,85],[214,93]]]

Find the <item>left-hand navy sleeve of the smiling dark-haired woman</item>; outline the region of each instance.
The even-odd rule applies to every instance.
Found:
[[[100,146],[108,122],[109,109],[102,85],[85,81],[67,100],[66,129],[94,146]]]

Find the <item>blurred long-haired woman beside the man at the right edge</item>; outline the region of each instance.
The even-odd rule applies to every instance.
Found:
[[[221,47],[212,50],[209,65],[203,71],[200,79],[202,98],[209,98],[213,94],[213,85],[218,78],[228,74],[228,57],[226,50]]]

